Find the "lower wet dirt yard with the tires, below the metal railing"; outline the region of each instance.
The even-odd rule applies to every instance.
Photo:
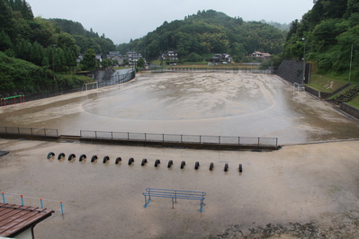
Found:
[[[275,152],[207,151],[76,143],[0,140],[1,190],[45,201],[57,212],[35,227],[38,238],[355,238],[359,207],[359,142],[284,146]],[[47,159],[52,151],[77,158]],[[78,162],[80,154],[98,155]],[[104,155],[111,160],[103,164]],[[121,156],[123,162],[114,164]],[[127,160],[135,158],[129,166]],[[142,158],[148,159],[144,167]],[[155,159],[160,159],[158,168]],[[172,169],[167,169],[173,160]],[[186,161],[181,170],[180,162]],[[194,163],[201,166],[194,170]],[[210,162],[215,165],[210,172]],[[229,172],[223,172],[224,164]],[[238,173],[243,164],[243,173]],[[154,199],[143,208],[148,188],[202,190],[199,202]],[[7,196],[20,203],[19,197]],[[25,203],[38,205],[37,200]],[[227,229],[225,229],[227,228]],[[248,237],[245,237],[248,236]],[[283,237],[284,236],[284,237]]]

